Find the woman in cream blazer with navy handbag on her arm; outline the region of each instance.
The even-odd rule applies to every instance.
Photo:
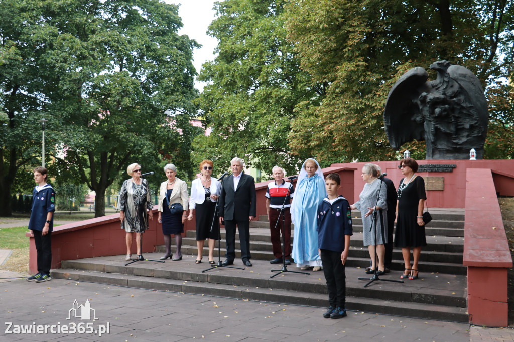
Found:
[[[185,181],[176,177],[177,168],[173,164],[164,166],[164,173],[168,178],[162,182],[159,188],[159,210],[158,221],[162,223],[162,234],[164,235],[164,246],[166,254],[161,260],[172,257],[171,234],[175,235],[177,251],[173,255],[173,261],[182,260],[180,246],[184,232],[184,222],[188,216],[188,186]]]

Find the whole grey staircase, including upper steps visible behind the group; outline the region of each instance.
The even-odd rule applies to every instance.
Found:
[[[346,263],[346,308],[427,319],[468,322],[467,269],[462,265],[464,246],[464,210],[431,209],[433,221],[426,228],[427,246],[421,251],[419,279],[404,283],[375,281],[363,286],[369,277],[364,267],[369,265],[368,248],[362,244],[362,221],[354,211],[350,257]],[[322,272],[309,275],[282,273],[270,278],[270,270],[280,270],[282,265],[271,265],[273,258],[269,242],[269,224],[265,216],[251,223],[250,249],[252,268],[243,266],[240,259],[239,237],[236,236],[235,267],[211,269],[204,249],[204,262],[195,264],[197,249],[195,232],[188,231],[182,241],[181,261],[165,263],[143,261],[125,266],[124,256],[98,257],[63,261],[62,269],[52,271],[52,277],[78,281],[123,285],[136,288],[176,291],[279,302],[315,307],[327,306],[327,290]],[[291,234],[291,238],[292,238]],[[222,229],[221,254],[225,255],[225,233]],[[158,259],[164,253],[157,246],[156,253],[145,258]],[[217,244],[215,257],[217,261]],[[207,271],[206,271],[207,270]],[[403,270],[401,251],[393,250],[391,273],[381,279],[399,280]],[[206,272],[202,272],[206,271]],[[299,271],[295,264],[288,271]]]

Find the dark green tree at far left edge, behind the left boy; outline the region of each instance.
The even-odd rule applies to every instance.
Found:
[[[34,4],[29,3],[0,2],[0,216],[11,215],[12,192],[33,186],[33,181],[30,186],[26,183],[33,166],[41,165],[38,120],[48,105],[43,89],[54,85],[45,72],[43,59],[51,48],[47,28],[32,25],[41,18],[34,17]],[[47,142],[47,151],[51,151],[51,135]]]

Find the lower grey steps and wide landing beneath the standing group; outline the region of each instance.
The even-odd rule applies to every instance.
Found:
[[[145,254],[158,259],[160,254]],[[125,266],[124,256],[99,257],[63,261],[63,269],[53,270],[52,277],[76,281],[94,281],[106,284],[185,293],[198,293],[239,299],[251,299],[286,304],[326,307],[327,291],[323,274],[310,275],[282,273],[270,278],[270,265],[254,260],[254,267],[236,270],[211,269],[209,264],[195,264],[195,256],[185,255],[182,261],[136,262]],[[205,259],[204,259],[205,260]],[[242,267],[236,261],[235,267]],[[208,270],[205,273],[201,271]],[[289,271],[298,270],[292,265]],[[466,277],[460,275],[420,272],[420,279],[392,283],[401,272],[393,271],[381,276],[368,288],[363,288],[369,277],[362,269],[346,267],[346,308],[365,312],[402,315],[409,317],[467,322]]]

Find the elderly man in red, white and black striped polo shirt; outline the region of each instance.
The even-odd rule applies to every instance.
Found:
[[[290,199],[293,197],[295,188],[291,182],[286,182],[284,179],[284,170],[279,166],[274,166],[271,169],[274,182],[268,184],[266,190],[266,211],[268,213],[269,229],[271,245],[273,246],[273,256],[275,257],[269,263],[282,263],[282,246],[280,243],[280,234],[282,232],[282,224],[285,224],[284,230],[284,245],[285,245],[285,264],[290,265],[289,260],[291,256],[291,213],[289,207],[291,206]],[[290,190],[289,190],[290,188]],[[287,192],[289,190],[289,196]],[[285,200],[285,202],[284,202]],[[282,222],[280,210],[284,205],[285,220]],[[275,227],[277,220],[279,224]]]

